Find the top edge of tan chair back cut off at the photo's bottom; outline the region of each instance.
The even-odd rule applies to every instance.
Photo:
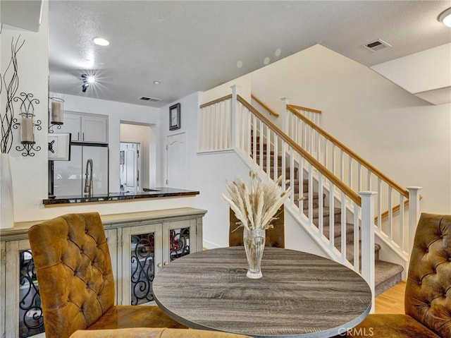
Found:
[[[206,330],[180,329],[118,329],[118,330],[79,330],[70,338],[250,338],[241,334]]]

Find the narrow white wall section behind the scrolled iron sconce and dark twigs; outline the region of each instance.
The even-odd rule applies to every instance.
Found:
[[[20,145],[20,129],[13,130],[13,147],[11,148],[11,172],[13,177],[14,215],[15,219],[26,219],[42,206],[42,199],[47,198],[47,109],[48,109],[48,3],[44,1],[42,8],[42,23],[39,32],[16,30],[4,25],[0,34],[1,57],[0,69],[3,75],[11,60],[11,39],[25,44],[18,52],[19,86],[16,96],[21,92],[32,93],[34,99],[39,99],[35,106],[35,120],[42,121],[42,130],[35,131],[36,145],[42,150],[35,152],[34,157],[23,157],[16,150]],[[8,72],[6,83],[11,80]],[[3,80],[3,79],[2,79]],[[4,114],[6,107],[6,88],[1,92],[0,109]],[[18,119],[19,104],[15,103],[15,118]]]

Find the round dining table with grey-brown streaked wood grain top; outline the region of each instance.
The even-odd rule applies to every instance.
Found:
[[[154,298],[171,318],[195,329],[252,337],[333,337],[362,322],[371,289],[338,262],[266,247],[263,277],[246,277],[243,247],[174,260],[154,279]]]

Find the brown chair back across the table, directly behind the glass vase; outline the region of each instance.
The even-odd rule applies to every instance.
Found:
[[[285,248],[285,221],[284,221],[284,208],[283,205],[277,210],[277,219],[273,222],[273,227],[266,230],[266,243],[265,246],[273,246],[275,248]],[[244,246],[242,241],[242,227],[237,226],[237,222],[240,220],[235,216],[235,212],[230,209],[230,227],[228,234],[229,246]]]

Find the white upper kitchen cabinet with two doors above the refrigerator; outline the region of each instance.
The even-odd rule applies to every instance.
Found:
[[[64,111],[58,133],[71,133],[72,142],[108,143],[108,116]]]

